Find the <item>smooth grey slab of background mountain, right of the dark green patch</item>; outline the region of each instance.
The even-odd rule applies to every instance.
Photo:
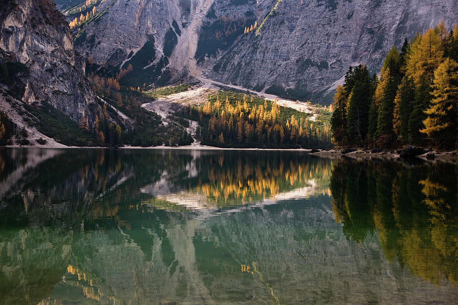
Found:
[[[333,95],[349,66],[365,63],[378,73],[393,45],[400,48],[442,19],[449,28],[458,20],[450,0],[275,0],[258,1],[258,23],[266,2],[278,6],[222,56],[210,77],[296,98]]]

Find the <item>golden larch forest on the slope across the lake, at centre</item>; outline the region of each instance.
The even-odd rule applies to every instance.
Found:
[[[221,102],[224,100],[224,103]],[[232,100],[232,101],[231,101]],[[219,91],[204,105],[184,110],[197,120],[197,139],[220,147],[317,147],[330,145],[329,124],[275,101]]]

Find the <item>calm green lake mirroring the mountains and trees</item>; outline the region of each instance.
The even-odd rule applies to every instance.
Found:
[[[0,304],[456,304],[457,173],[0,149]]]

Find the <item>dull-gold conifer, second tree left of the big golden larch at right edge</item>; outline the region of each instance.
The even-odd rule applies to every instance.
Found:
[[[415,99],[415,85],[412,77],[405,76],[394,99],[393,127],[399,141],[409,140],[409,117]]]

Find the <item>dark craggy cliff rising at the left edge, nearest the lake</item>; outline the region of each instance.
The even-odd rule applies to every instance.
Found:
[[[84,115],[91,124],[95,95],[84,75],[85,60],[74,51],[54,1],[2,0],[0,8],[2,110],[14,120],[13,112],[20,110],[12,104],[48,103],[74,121]]]

